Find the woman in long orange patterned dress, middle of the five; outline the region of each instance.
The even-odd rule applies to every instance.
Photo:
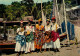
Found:
[[[38,20],[38,24],[36,24],[36,31],[35,31],[35,48],[42,50],[42,44],[43,44],[43,37],[44,37],[44,26],[42,25],[42,20]]]

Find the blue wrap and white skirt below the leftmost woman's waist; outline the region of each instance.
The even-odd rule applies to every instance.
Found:
[[[15,46],[15,51],[20,52],[20,51],[25,51],[25,36],[23,35],[17,35],[16,36],[16,46]]]

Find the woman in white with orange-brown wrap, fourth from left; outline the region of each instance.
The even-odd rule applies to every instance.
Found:
[[[43,44],[43,49],[44,51],[46,51],[46,48],[49,49],[52,48],[52,44],[51,44],[51,38],[50,38],[50,33],[51,33],[51,25],[50,25],[50,19],[47,19],[47,24],[45,26],[45,43]]]

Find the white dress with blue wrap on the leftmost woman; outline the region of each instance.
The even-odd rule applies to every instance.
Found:
[[[25,51],[25,36],[24,36],[24,31],[22,28],[17,29],[18,35],[16,36],[16,46],[15,46],[15,51],[20,52],[20,51]]]

